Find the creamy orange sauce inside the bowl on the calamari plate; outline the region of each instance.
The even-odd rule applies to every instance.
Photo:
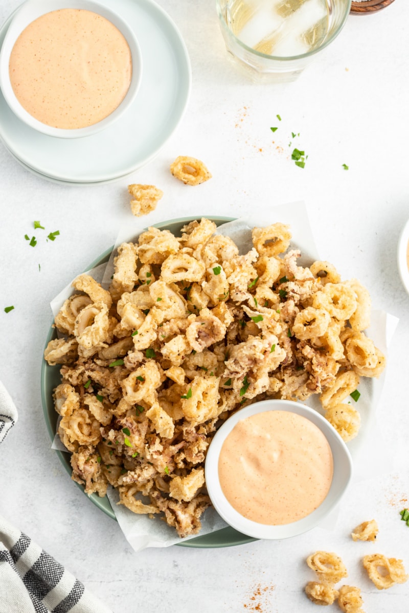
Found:
[[[325,436],[305,417],[266,411],[239,421],[219,457],[221,489],[242,516],[282,525],[310,514],[331,487]]]

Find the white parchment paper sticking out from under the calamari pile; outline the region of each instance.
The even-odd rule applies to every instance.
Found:
[[[315,260],[321,259],[316,251],[307,209],[303,202],[292,202],[290,204],[272,207],[268,211],[258,211],[254,215],[248,215],[223,224],[223,226],[218,227],[216,234],[223,234],[231,237],[237,246],[239,246],[240,253],[247,253],[253,246],[251,242],[251,228],[254,226],[269,226],[278,221],[291,226],[291,248],[300,249],[302,254],[302,257],[300,257],[297,262],[298,264],[305,266],[311,264]],[[139,234],[145,229],[144,224],[142,220],[138,219],[132,234],[129,233],[128,225],[121,228],[109,262],[88,271],[88,274],[101,283],[105,289],[110,286],[114,270],[113,258],[116,255],[118,245],[123,242],[136,242]],[[331,254],[324,259],[329,259],[331,261]],[[336,264],[337,263],[334,262],[335,267]],[[58,313],[64,300],[66,300],[72,292],[73,288],[70,284],[64,287],[63,291],[52,300],[51,307],[54,316]],[[375,345],[385,354],[388,353],[388,346],[391,343],[397,322],[398,319],[388,313],[384,313],[383,311],[372,312],[372,323],[367,333],[369,337],[373,339]],[[375,474],[379,476],[379,474],[388,473],[392,468],[392,457],[383,442],[376,419],[376,409],[383,390],[384,379],[385,372],[382,373],[379,379],[361,378],[361,383],[359,384],[358,389],[359,392],[361,392],[361,397],[359,398],[357,408],[361,414],[361,429],[359,430],[358,436],[348,444],[354,463],[353,481],[369,479]],[[350,402],[354,403],[352,398]],[[308,398],[305,404],[312,406],[320,413],[323,412],[318,398]],[[66,451],[58,435],[55,436],[52,448]],[[151,520],[148,516],[132,513],[122,504],[118,505],[119,496],[117,490],[114,488],[109,487],[107,495],[121,530],[135,551],[140,551],[141,549],[145,549],[145,547],[169,547],[170,545],[180,543],[181,540],[188,540],[189,538],[197,536],[194,535],[186,539],[180,539],[176,536],[174,528],[169,527],[165,522],[158,520],[158,518]],[[334,511],[326,517],[324,522],[320,524],[320,527],[329,530],[334,529],[337,516],[338,508],[334,509]],[[202,536],[220,530],[226,527],[226,525],[227,524],[221,517],[218,516],[215,509],[209,508],[202,516],[202,529],[200,535]]]

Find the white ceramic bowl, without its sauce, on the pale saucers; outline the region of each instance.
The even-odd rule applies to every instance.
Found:
[[[110,115],[105,117],[103,120],[94,123],[91,126],[86,126],[86,128],[78,128],[78,129],[61,129],[61,128],[53,128],[52,126],[48,126],[45,123],[34,118],[30,115],[26,109],[18,101],[15,93],[13,91],[10,75],[9,75],[9,61],[10,54],[14,47],[14,44],[21,32],[34,20],[41,17],[41,15],[45,15],[45,13],[49,13],[53,10],[59,9],[85,9],[90,10],[91,12],[97,13],[101,15],[101,17],[105,17],[108,21],[110,21],[114,26],[118,28],[118,30],[123,34],[126,42],[128,42],[129,49],[131,50],[132,57],[132,78],[131,85],[129,86],[128,92],[124,97],[118,107],[113,110]],[[18,10],[12,22],[10,23],[9,29],[7,30],[6,36],[4,37],[4,42],[1,47],[0,52],[0,88],[4,98],[6,99],[7,104],[10,109],[17,115],[17,117],[24,121],[28,126],[34,128],[38,132],[42,132],[43,134],[47,134],[48,136],[55,136],[63,139],[77,139],[84,136],[90,136],[91,134],[96,134],[97,132],[107,128],[113,121],[116,121],[122,113],[128,109],[129,105],[134,101],[137,91],[139,89],[140,81],[142,78],[142,55],[140,53],[140,48],[138,41],[134,32],[132,32],[131,28],[123,21],[117,13],[113,12],[113,10],[108,9],[103,4],[99,4],[99,2],[94,0],[28,0],[25,2],[23,6]]]

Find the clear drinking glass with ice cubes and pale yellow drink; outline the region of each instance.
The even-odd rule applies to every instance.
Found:
[[[345,24],[351,0],[216,0],[227,51],[256,82],[295,80]]]

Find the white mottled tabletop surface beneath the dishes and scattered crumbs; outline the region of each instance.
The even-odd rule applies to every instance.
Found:
[[[0,19],[19,3],[2,0]],[[283,86],[251,85],[235,72],[212,1],[160,4],[185,37],[193,90],[185,118],[155,161],[117,183],[69,187],[35,177],[0,145],[0,376],[20,413],[0,450],[0,513],[115,612],[313,612],[302,592],[313,578],[304,560],[327,549],[342,555],[348,582],[362,588],[364,611],[403,613],[409,582],[378,592],[359,558],[378,550],[403,558],[409,570],[409,528],[399,517],[409,494],[409,297],[396,265],[397,239],[409,216],[409,3],[350,17],[334,44],[296,83]],[[277,113],[282,121],[272,135]],[[296,143],[308,154],[304,170],[291,162],[291,131],[300,132]],[[198,188],[178,183],[168,167],[179,154],[204,159],[212,180]],[[165,192],[147,223],[182,215],[238,216],[304,199],[321,257],[345,278],[357,276],[375,307],[400,318],[378,407],[394,469],[349,490],[333,531],[316,528],[289,541],[230,549],[135,554],[50,449],[40,399],[48,303],[112,245],[121,224],[132,227],[126,185],[135,182],[155,183]],[[24,235],[34,233],[34,219],[61,232],[55,242],[28,245]],[[4,313],[7,305],[15,310]],[[372,517],[380,524],[378,543],[353,543],[351,528]]]

